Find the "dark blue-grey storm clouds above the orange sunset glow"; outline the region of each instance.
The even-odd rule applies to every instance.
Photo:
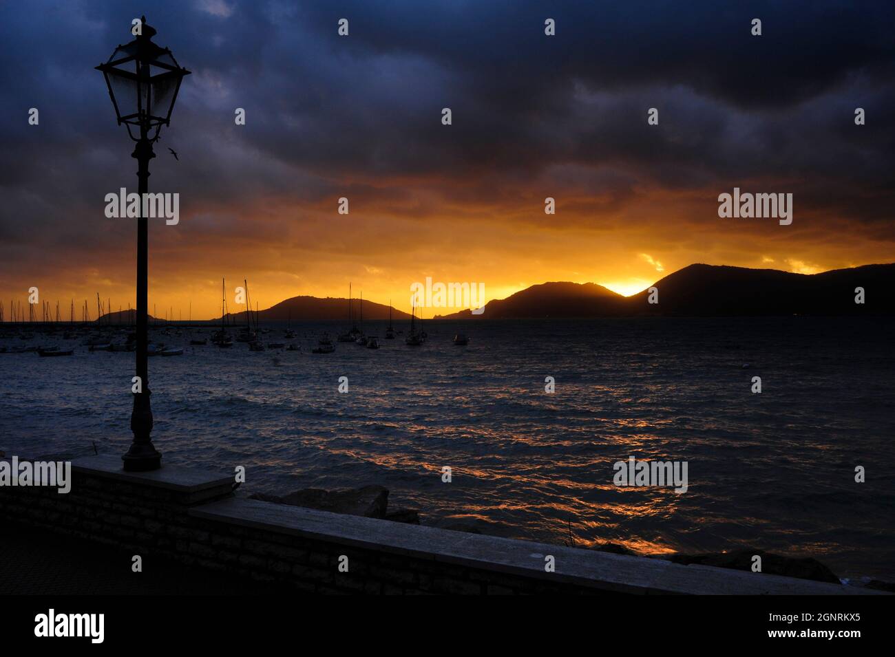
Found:
[[[331,205],[352,190],[399,214],[512,208],[543,198],[543,181],[555,195],[595,194],[604,210],[650,190],[716,195],[756,181],[798,190],[801,207],[891,221],[891,3],[144,5],[0,6],[4,262],[54,242],[74,254],[131,239],[101,214],[98,199],[131,186],[135,166],[93,66],[144,12],[193,72],[150,184],[188,190],[187,213],[237,217],[222,237],[284,199]],[[543,35],[548,17],[555,38]],[[38,127],[26,124],[32,106]],[[652,106],[661,124],[647,128]],[[856,106],[868,115],[860,129]],[[235,107],[246,126],[234,126]]]

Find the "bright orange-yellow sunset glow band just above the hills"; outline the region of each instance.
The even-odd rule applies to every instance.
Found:
[[[627,296],[695,262],[813,274],[889,257],[886,243],[872,234],[843,232],[844,239],[824,239],[816,229],[823,216],[797,210],[796,221],[784,228],[720,219],[712,198],[678,203],[687,210],[677,210],[682,216],[675,220],[669,219],[676,210],[667,201],[648,198],[637,199],[636,211],[610,215],[598,208],[567,211],[560,200],[553,216],[537,206],[526,212],[480,204],[451,206],[448,219],[437,208],[417,215],[367,207],[362,197],[354,200],[350,215],[338,215],[334,198],[331,212],[321,204],[293,206],[277,215],[246,208],[244,215],[221,222],[223,229],[212,219],[222,210],[187,206],[178,226],[150,225],[149,309],[157,307],[159,316],[173,312],[175,319],[219,316],[222,277],[228,295],[247,278],[251,299],[262,309],[298,295],[347,297],[352,283],[355,298],[362,293],[382,304],[391,299],[394,307],[409,311],[411,284],[427,276],[436,282],[483,282],[486,300],[548,281],[598,282]],[[637,218],[647,207],[663,219]],[[127,246],[115,246],[127,243],[127,221],[101,215],[89,220],[99,244],[86,252],[66,249],[52,268],[22,263],[4,276],[5,295],[23,299],[37,285],[52,307],[58,299],[65,318],[72,299],[76,313],[84,299],[94,313],[97,293],[104,306],[111,299],[113,310],[127,308],[133,304],[133,255]],[[229,296],[227,304],[238,309]],[[461,308],[435,312],[454,309]]]

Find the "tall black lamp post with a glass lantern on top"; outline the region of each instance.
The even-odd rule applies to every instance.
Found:
[[[139,29],[139,31],[138,31]],[[132,157],[137,160],[137,179],[141,213],[137,219],[137,376],[141,392],[133,394],[131,448],[122,457],[124,469],[155,470],[161,467],[161,452],[150,438],[152,407],[149,403],[149,365],[147,363],[147,287],[148,236],[146,206],[143,199],[149,188],[149,160],[156,156],[152,144],[163,125],[170,125],[177,92],[183,76],[190,72],[180,66],[167,48],[152,42],[156,30],[143,16],[134,25],[137,38],[115,52],[106,63],[97,66],[103,72],[115,106],[118,125],[124,123],[128,136],[136,142]],[[136,134],[135,134],[136,133]]]

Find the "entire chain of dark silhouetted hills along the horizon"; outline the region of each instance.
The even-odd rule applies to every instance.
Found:
[[[819,274],[795,274],[779,269],[750,269],[732,265],[687,265],[662,277],[651,287],[659,303],[649,303],[649,289],[624,297],[598,283],[542,282],[492,299],[481,315],[470,310],[433,319],[528,319],[618,316],[781,316],[781,315],[892,315],[895,314],[895,263],[832,269]],[[855,303],[855,288],[865,290],[865,303]],[[354,321],[360,321],[361,300],[352,299]],[[252,311],[254,313],[254,311]],[[428,314],[428,313],[426,313]],[[125,310],[111,314],[113,324],[133,323]],[[419,316],[419,315],[418,315]],[[101,321],[107,321],[107,315]],[[388,320],[388,306],[363,300],[363,318]],[[348,299],[299,295],[259,311],[260,322],[348,321]],[[410,314],[392,308],[392,321]],[[245,310],[227,313],[229,323],[245,322]],[[149,317],[153,322],[163,321]],[[219,323],[221,317],[201,322]],[[254,321],[254,315],[252,315]]]

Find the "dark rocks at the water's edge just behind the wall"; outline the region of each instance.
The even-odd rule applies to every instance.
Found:
[[[365,518],[381,518],[393,522],[403,522],[412,525],[420,524],[420,512],[418,510],[399,508],[388,510],[388,488],[380,485],[366,485],[360,488],[347,488],[328,491],[322,488],[303,488],[286,495],[268,495],[265,493],[253,493],[249,495],[251,500],[276,502],[290,506],[304,507],[330,511],[332,513],[344,513],[351,516],[363,516]],[[469,532],[472,534],[492,534],[483,532],[482,529],[470,523],[457,521],[441,521],[436,524],[442,529],[452,531]],[[494,535],[503,534],[499,526]],[[570,547],[579,547],[568,541],[561,542]],[[707,552],[703,554],[641,554],[629,550],[619,543],[601,543],[592,547],[580,546],[585,550],[599,552],[611,552],[613,554],[626,554],[635,557],[649,559],[665,559],[683,565],[714,566],[735,570],[752,570],[753,557],[762,558],[762,572],[766,575],[783,575],[785,577],[797,577],[799,579],[811,579],[817,582],[842,584],[843,580],[821,561],[812,557],[786,557],[773,552],[763,550],[739,549],[732,552]],[[862,583],[867,588],[882,591],[895,592],[895,584],[872,579]]]

